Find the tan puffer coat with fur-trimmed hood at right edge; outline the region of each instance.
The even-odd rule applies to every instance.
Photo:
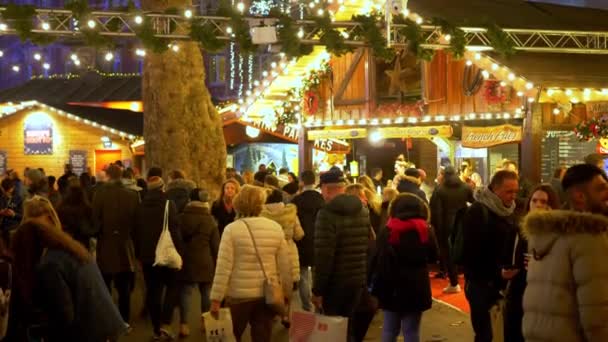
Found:
[[[608,341],[608,218],[535,212],[523,227],[533,255],[523,303],[526,341]]]

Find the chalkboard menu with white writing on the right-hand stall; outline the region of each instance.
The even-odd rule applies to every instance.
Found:
[[[542,140],[542,181],[553,178],[553,172],[560,166],[583,163],[590,153],[596,153],[597,141],[579,141],[571,131],[547,131]]]

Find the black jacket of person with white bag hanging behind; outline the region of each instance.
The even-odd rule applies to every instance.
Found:
[[[148,190],[146,197],[137,208],[133,242],[137,259],[144,265],[154,263],[156,245],[160,233],[163,231],[167,201],[167,195],[160,189]],[[173,201],[169,201],[169,232],[178,253],[183,255],[184,248],[177,220],[177,208]]]

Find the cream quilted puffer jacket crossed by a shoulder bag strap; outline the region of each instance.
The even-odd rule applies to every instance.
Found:
[[[251,227],[268,277],[280,279],[284,293],[290,293],[291,262],[281,226],[265,217],[248,217],[227,225],[222,234],[210,298],[264,297],[264,273],[244,220]]]

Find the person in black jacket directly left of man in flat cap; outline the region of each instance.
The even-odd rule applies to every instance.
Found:
[[[302,193],[293,198],[292,203],[298,208],[298,219],[304,229],[304,237],[296,241],[300,257],[300,299],[302,308],[312,311],[310,301],[310,268],[314,265],[315,221],[319,210],[325,205],[323,196],[315,189],[315,174],[307,170],[302,172]]]

